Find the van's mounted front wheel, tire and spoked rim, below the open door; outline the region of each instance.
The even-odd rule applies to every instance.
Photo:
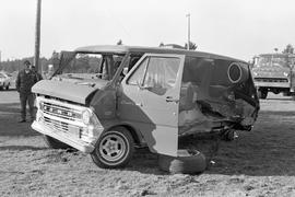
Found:
[[[98,167],[118,169],[128,164],[133,152],[134,140],[131,134],[122,127],[117,127],[99,137],[91,158]]]

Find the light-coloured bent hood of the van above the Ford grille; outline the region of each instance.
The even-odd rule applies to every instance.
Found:
[[[97,90],[98,89],[93,86],[52,80],[42,80],[32,88],[33,93],[54,96],[81,104],[86,104],[86,99]]]

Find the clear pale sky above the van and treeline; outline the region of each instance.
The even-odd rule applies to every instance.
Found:
[[[1,59],[34,56],[37,0],[0,0]],[[250,60],[295,45],[294,0],[43,0],[40,56],[87,45],[185,45]]]

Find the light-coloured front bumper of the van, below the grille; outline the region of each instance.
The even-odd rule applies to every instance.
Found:
[[[82,152],[91,153],[94,150],[94,146],[92,143],[82,141],[79,138],[73,138],[70,134],[52,130],[36,120],[32,124],[32,128],[40,134],[50,136],[63,143],[67,143]]]

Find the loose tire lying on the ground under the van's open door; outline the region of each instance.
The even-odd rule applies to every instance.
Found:
[[[204,154],[197,150],[178,150],[177,154],[177,157],[160,154],[160,169],[172,174],[197,174],[206,167]]]

